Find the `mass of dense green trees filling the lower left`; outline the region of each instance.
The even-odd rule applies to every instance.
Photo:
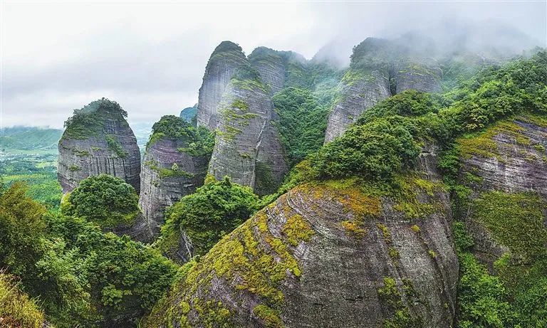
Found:
[[[0,268],[39,298],[55,327],[130,324],[162,297],[177,271],[127,236],[46,213],[19,183],[0,190]]]

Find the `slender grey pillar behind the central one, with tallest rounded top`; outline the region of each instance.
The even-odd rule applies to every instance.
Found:
[[[217,128],[218,105],[234,70],[246,63],[241,47],[230,41],[223,41],[214,49],[199,88],[197,125]]]

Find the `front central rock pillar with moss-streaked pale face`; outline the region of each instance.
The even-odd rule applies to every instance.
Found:
[[[277,130],[271,125],[273,105],[260,81],[233,80],[222,97],[219,127],[209,162],[216,179],[269,194],[281,184],[287,165]]]

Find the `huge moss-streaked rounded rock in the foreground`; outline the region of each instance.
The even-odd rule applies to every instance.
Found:
[[[449,198],[437,181],[405,181],[403,198],[347,181],[292,189],[215,245],[143,327],[451,327]]]

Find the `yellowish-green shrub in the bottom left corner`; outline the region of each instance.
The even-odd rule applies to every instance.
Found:
[[[0,326],[41,328],[45,321],[38,302],[19,290],[14,277],[0,273]]]

